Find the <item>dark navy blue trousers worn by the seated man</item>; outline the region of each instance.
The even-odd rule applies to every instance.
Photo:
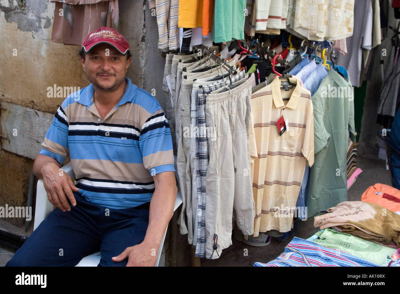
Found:
[[[126,266],[128,258],[111,258],[144,240],[150,203],[112,209],[90,203],[77,192],[74,196],[76,206],[70,204],[66,212],[53,210],[6,266],[75,266],[98,251],[98,266]]]

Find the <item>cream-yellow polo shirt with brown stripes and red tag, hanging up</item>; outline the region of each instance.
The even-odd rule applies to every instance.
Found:
[[[296,83],[296,78],[290,78]],[[314,163],[314,113],[310,91],[300,84],[281,90],[278,77],[251,96],[250,156],[256,204],[254,234],[292,228],[306,161]],[[282,96],[290,97],[283,100]],[[279,136],[283,115],[287,130]]]

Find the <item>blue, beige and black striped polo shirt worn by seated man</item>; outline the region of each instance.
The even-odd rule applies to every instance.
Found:
[[[100,117],[93,85],[58,108],[40,154],[70,156],[75,185],[87,201],[114,209],[150,202],[152,176],[174,171],[171,132],[157,100],[125,78],[121,100]]]

